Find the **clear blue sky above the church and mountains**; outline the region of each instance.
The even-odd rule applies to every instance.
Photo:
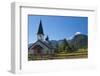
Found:
[[[88,35],[88,17],[29,15],[29,43],[37,40],[40,20],[42,21],[45,37],[48,35],[50,40],[70,39],[75,33]]]

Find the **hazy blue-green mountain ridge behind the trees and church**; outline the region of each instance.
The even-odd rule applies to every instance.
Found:
[[[64,43],[64,39],[62,40],[50,40],[49,41],[52,47],[56,48]],[[77,34],[71,40],[67,40],[70,46],[74,46],[77,49],[86,48],[88,45],[88,36],[84,34]],[[28,47],[31,47],[33,43],[29,44]]]

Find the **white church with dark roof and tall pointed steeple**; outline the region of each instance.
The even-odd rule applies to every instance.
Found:
[[[47,55],[54,54],[54,49],[49,42],[49,37],[44,39],[44,31],[42,22],[40,20],[39,28],[37,31],[37,41],[28,47],[28,53],[33,55]]]

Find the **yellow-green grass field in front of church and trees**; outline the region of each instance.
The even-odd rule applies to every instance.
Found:
[[[54,55],[28,55],[28,60],[53,60],[53,59],[75,59],[75,58],[88,58],[87,49],[79,49],[75,52],[60,52]]]

